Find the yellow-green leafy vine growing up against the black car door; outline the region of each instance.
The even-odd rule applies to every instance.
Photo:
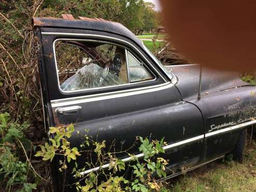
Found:
[[[166,176],[168,164],[166,159],[160,157],[165,153],[164,139],[150,141],[148,138],[137,137],[135,143],[140,143],[139,151],[143,153],[143,157],[138,158],[136,155],[129,154],[128,150],[122,152],[107,150],[105,141],[93,141],[89,135],[81,135],[79,131],[75,131],[72,124],[50,127],[49,133],[51,144],[39,145],[41,150],[35,156],[41,156],[43,160],[50,161],[57,155],[61,156],[59,171],[66,170],[73,161],[75,166],[72,174],[77,179],[73,187],[77,191],[168,191],[165,188],[166,183],[159,181]],[[78,148],[71,148],[68,140],[75,133],[83,136],[84,142]],[[82,153],[87,153],[87,156],[95,155],[97,164],[89,160],[84,165],[78,164],[76,159]],[[130,161],[124,162],[118,159],[117,153],[127,154]],[[107,163],[108,167],[104,169],[103,165]],[[83,173],[95,167],[99,167],[99,170]],[[130,170],[132,176],[128,176],[127,170]]]

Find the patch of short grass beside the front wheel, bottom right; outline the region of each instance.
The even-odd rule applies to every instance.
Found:
[[[214,161],[169,181],[171,191],[256,191],[256,143],[247,145],[244,163]]]

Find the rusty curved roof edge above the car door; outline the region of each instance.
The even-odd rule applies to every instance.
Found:
[[[32,19],[32,24],[34,28],[39,26],[43,28],[69,28],[109,32],[128,37],[142,46],[141,40],[120,23],[106,21],[100,18],[79,17],[79,19],[74,19],[70,14],[64,14],[62,17],[63,19],[53,17],[34,17]]]

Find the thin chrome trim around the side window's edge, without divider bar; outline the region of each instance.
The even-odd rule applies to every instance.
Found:
[[[82,91],[90,91],[90,90],[99,90],[99,89],[107,89],[107,88],[113,88],[113,87],[121,87],[121,86],[127,86],[127,85],[133,85],[133,84],[140,84],[140,83],[144,83],[144,82],[150,82],[150,81],[155,81],[156,80],[156,75],[152,72],[152,74],[154,74],[154,77],[153,79],[150,79],[150,80],[144,80],[144,81],[138,81],[138,82],[134,82],[134,83],[126,83],[126,84],[122,84],[122,85],[113,85],[113,86],[104,86],[104,87],[96,87],[96,88],[90,88],[90,89],[79,89],[79,90],[73,90],[73,91],[63,91],[61,88],[60,88],[60,81],[59,81],[59,74],[58,74],[58,64],[57,64],[57,59],[56,59],[56,51],[55,51],[55,43],[58,41],[58,40],[77,40],[77,41],[80,41],[80,42],[102,42],[102,43],[109,43],[109,44],[113,44],[113,45],[117,45],[117,46],[120,46],[120,47],[123,47],[125,50],[127,49],[126,47],[122,46],[122,45],[118,45],[118,44],[115,44],[115,43],[110,43],[110,42],[105,42],[103,40],[95,40],[95,39],[73,39],[73,38],[57,38],[53,41],[53,56],[54,56],[54,59],[55,59],[55,67],[56,67],[56,75],[57,75],[57,81],[58,81],[58,88],[59,90],[62,92],[62,93],[74,93],[74,92],[82,92]],[[72,45],[72,44],[69,44],[69,45]],[[75,45],[72,45],[74,47],[78,47],[78,46],[75,46]],[[133,54],[132,54],[133,56]],[[128,63],[127,63],[128,65]],[[153,66],[152,66],[153,67]],[[153,67],[154,68],[154,67]],[[154,68],[154,71],[157,72]],[[157,72],[158,73],[158,72]],[[163,78],[164,79],[164,78]],[[164,79],[165,80],[165,79]]]

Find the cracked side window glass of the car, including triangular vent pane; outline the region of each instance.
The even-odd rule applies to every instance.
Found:
[[[124,47],[107,42],[55,42],[59,86],[62,91],[125,85],[153,79]]]

